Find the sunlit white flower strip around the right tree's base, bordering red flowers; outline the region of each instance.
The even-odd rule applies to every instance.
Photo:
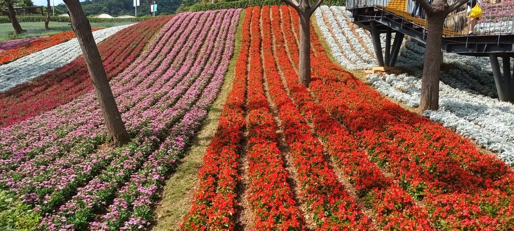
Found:
[[[366,77],[380,93],[410,107],[418,106],[420,79],[407,74]],[[439,86],[439,110],[428,110],[424,115],[497,152],[507,164],[514,164],[514,105],[444,83]]]

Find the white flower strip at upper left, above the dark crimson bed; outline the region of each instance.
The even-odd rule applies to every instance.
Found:
[[[119,30],[130,25],[106,28],[93,32],[99,43]],[[0,65],[0,92],[37,78],[49,71],[62,67],[82,54],[77,38],[50,48],[29,54],[14,62]]]

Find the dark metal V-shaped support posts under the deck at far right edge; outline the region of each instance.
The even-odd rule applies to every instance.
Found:
[[[512,74],[510,73],[510,57],[503,56],[503,74],[500,71],[500,63],[497,54],[489,54],[491,61],[492,74],[494,75],[494,83],[498,91],[500,101],[514,102],[514,83],[512,82]]]

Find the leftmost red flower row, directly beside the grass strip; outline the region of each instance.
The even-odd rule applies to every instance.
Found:
[[[248,8],[242,25],[241,51],[235,63],[232,90],[204,156],[204,165],[198,174],[200,182],[191,210],[182,224],[183,230],[234,229],[235,187],[241,178],[237,172],[237,158],[246,126],[244,112],[251,17],[252,10]]]

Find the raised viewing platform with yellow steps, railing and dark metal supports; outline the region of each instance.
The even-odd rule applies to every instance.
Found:
[[[370,31],[377,63],[380,67],[395,66],[405,35],[426,44],[427,20],[411,16],[411,12],[408,12],[408,1],[410,0],[346,1],[346,10],[352,13],[351,21]],[[505,9],[514,11],[514,7]],[[499,15],[508,14],[502,12]],[[495,15],[488,15],[488,17],[489,22],[484,25],[489,25],[490,28],[486,27],[485,32],[481,31],[476,35],[464,35],[462,31],[455,31],[455,28],[445,28],[442,50],[462,55],[488,56],[500,100],[512,102],[514,101],[514,82],[512,81],[514,74],[510,70],[511,57],[514,57],[514,20],[512,16],[498,18]],[[512,25],[512,28],[510,31],[498,29],[496,28],[498,25]],[[467,31],[467,27],[462,27],[462,29]],[[392,41],[393,32],[395,33],[394,41]],[[380,40],[382,33],[386,34],[384,49],[382,49]],[[503,71],[500,70],[499,57],[502,58]]]

